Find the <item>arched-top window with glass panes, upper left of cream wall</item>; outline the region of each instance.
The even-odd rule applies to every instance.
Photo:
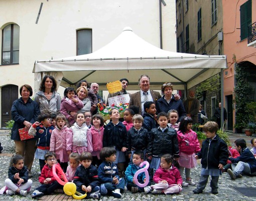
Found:
[[[3,29],[2,35],[2,65],[19,64],[20,27],[8,25]]]

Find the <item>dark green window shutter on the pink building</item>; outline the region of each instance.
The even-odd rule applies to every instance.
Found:
[[[240,6],[240,38],[248,37],[248,26],[251,25],[251,0]]]

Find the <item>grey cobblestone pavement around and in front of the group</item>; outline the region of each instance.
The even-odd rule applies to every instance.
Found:
[[[9,130],[0,130],[0,142],[4,147],[2,154],[0,154],[0,188],[5,185],[5,179],[8,177],[8,167],[10,163],[10,159],[12,154],[15,153],[15,146],[14,141],[10,139],[8,135]],[[253,134],[255,137],[256,135]],[[244,134],[230,134],[230,140],[233,142],[237,138],[245,138],[246,142],[249,143],[251,137],[246,137]],[[247,144],[250,146],[250,144]],[[200,170],[201,165],[200,161],[198,160],[197,166],[191,170],[191,177],[193,181],[198,182],[200,177]],[[40,183],[38,182],[38,172],[39,169],[39,162],[37,159],[34,160],[32,166],[32,173],[33,173],[33,185],[31,192],[38,186]],[[231,180],[227,173],[224,173],[222,176],[219,177],[219,193],[212,194],[209,182],[207,183],[206,188],[204,189],[203,193],[201,194],[194,194],[192,190],[195,186],[183,187],[183,190],[180,194],[175,195],[154,195],[154,194],[145,194],[143,193],[131,193],[127,191],[126,193],[122,194],[121,198],[114,198],[112,196],[102,196],[100,200],[102,201],[110,201],[110,200],[130,200],[130,201],[145,201],[145,200],[172,200],[172,201],[180,201],[180,200],[187,200],[187,201],[196,201],[196,200],[208,200],[208,201],[215,201],[215,200],[255,200],[256,197],[247,197],[240,194],[238,191],[234,190],[232,187],[256,187],[256,176],[247,176],[243,175],[242,178],[238,178],[236,180]],[[23,197],[21,195],[14,195],[14,196],[7,196],[6,194],[0,195],[0,200],[34,200],[31,198],[31,192],[27,194],[27,197]],[[65,194],[53,194],[53,195],[46,195],[40,198],[40,200],[47,200],[47,201],[57,201],[57,200],[76,200],[73,199],[72,196],[67,196]]]

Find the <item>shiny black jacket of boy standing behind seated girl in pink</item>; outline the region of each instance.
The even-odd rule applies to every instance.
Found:
[[[169,153],[175,158],[180,157],[177,132],[173,128],[167,128],[164,132],[158,128],[154,128],[150,132],[149,144],[147,148],[148,156],[161,157]]]

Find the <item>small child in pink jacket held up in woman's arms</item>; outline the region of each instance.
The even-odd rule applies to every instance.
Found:
[[[60,112],[65,115],[70,126],[75,123],[75,117],[70,112],[78,111],[83,108],[83,102],[77,97],[74,88],[68,87],[64,91],[64,97],[61,100]]]

